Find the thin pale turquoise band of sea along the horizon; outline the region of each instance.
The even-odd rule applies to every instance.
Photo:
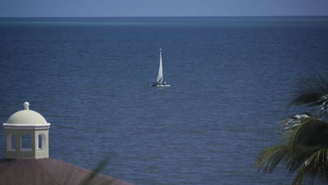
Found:
[[[53,17],[53,18],[0,18],[0,23],[4,22],[11,23],[48,23],[48,24],[66,24],[70,23],[82,24],[100,24],[100,25],[135,25],[135,24],[146,24],[146,25],[184,25],[191,24],[196,25],[224,25],[229,23],[231,25],[245,23],[245,22],[325,22],[328,20],[328,16],[213,16],[213,17]],[[128,24],[127,24],[128,23]]]

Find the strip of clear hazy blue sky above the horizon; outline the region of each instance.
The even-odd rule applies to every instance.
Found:
[[[0,0],[0,17],[328,15],[328,0]]]

